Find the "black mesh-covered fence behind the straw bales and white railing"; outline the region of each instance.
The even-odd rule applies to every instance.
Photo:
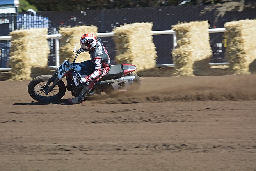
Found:
[[[153,31],[171,30],[172,25],[176,25],[179,21],[208,20],[210,28],[224,28],[225,22],[256,18],[256,10],[248,8],[242,12],[227,12],[224,17],[215,21],[215,11],[201,15],[204,7],[206,5],[0,14],[0,36],[8,36],[9,32],[17,29],[42,27],[47,27],[49,34],[59,34],[59,27],[78,25],[94,25],[98,27],[99,33],[105,33],[112,32],[114,28],[121,25],[136,22],[152,22]],[[116,49],[112,37],[102,37],[101,39],[114,62],[113,57]],[[172,64],[172,35],[154,35],[153,41],[158,55],[157,64]],[[223,42],[223,33],[210,33],[210,44],[214,53],[211,62],[226,62]],[[0,49],[2,50],[0,68],[9,67],[10,46],[10,41],[0,41]],[[48,64],[54,66],[55,44],[53,39],[49,40],[49,46],[51,47],[51,54]]]

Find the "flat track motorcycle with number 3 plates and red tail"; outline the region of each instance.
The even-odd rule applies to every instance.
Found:
[[[82,76],[91,74],[93,71],[86,65],[75,63],[76,58],[80,54],[78,50],[68,60],[55,70],[52,75],[37,76],[28,84],[28,93],[39,102],[54,102],[60,100],[66,93],[71,91],[72,96],[77,97],[86,85],[79,80]],[[73,62],[69,60],[75,55]],[[136,91],[139,89],[141,80],[133,71],[136,70],[135,65],[118,64],[111,66],[109,73],[97,81],[87,96],[101,94],[104,92],[110,94],[114,91]],[[62,78],[66,77],[65,85]]]

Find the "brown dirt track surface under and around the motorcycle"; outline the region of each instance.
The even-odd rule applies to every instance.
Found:
[[[79,105],[28,82],[0,81],[1,171],[256,171],[256,75],[142,77]]]

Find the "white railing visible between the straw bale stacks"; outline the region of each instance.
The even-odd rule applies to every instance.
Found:
[[[209,28],[208,29],[209,33],[223,33],[225,32],[225,28]],[[172,34],[173,35],[173,49],[177,46],[176,42],[176,32],[173,30],[160,30],[160,31],[151,31],[152,35],[163,35],[163,34]],[[114,32],[110,33],[97,33],[97,37],[113,37]],[[61,34],[50,34],[47,35],[47,38],[49,39],[55,39],[55,52],[56,52],[56,62],[55,66],[49,66],[50,68],[57,68],[60,65],[59,61],[59,39],[62,37]],[[0,41],[5,41],[5,40],[11,40],[11,36],[0,36]],[[216,65],[228,65],[226,62],[222,63],[209,63],[211,66],[216,66]],[[156,64],[156,67],[167,67],[167,66],[174,66],[174,64]],[[0,68],[0,71],[10,71],[12,68]]]

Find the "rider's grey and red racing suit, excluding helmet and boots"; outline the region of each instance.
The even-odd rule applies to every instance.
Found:
[[[110,71],[110,58],[108,52],[101,42],[100,38],[97,38],[97,44],[93,51],[89,51],[91,60],[81,62],[82,64],[89,65],[94,72],[86,76],[85,79],[89,82],[87,86],[88,89],[92,89],[94,84],[101,79],[103,76],[107,75]]]

